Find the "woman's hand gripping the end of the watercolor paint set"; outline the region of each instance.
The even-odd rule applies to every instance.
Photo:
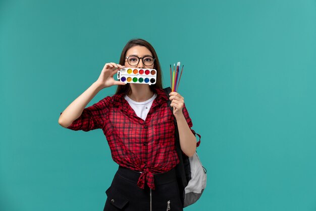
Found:
[[[124,82],[117,81],[114,79],[114,74],[117,73],[120,69],[124,68],[120,64],[116,64],[114,62],[106,63],[104,65],[99,78],[96,82],[101,86],[101,88],[111,87],[113,85],[125,85]]]

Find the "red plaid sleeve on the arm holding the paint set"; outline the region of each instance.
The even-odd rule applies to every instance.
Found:
[[[102,128],[102,119],[105,119],[107,111],[109,110],[109,97],[100,100],[93,105],[84,108],[82,114],[75,119],[67,129],[73,131],[91,131]],[[61,112],[62,114],[63,112]],[[60,115],[61,115],[60,114]]]

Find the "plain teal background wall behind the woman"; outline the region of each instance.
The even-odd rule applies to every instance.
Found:
[[[316,210],[315,1],[0,2],[0,210],[102,210],[101,130],[62,112],[131,38],[185,65],[207,189],[185,210]],[[114,94],[103,89],[88,104]]]

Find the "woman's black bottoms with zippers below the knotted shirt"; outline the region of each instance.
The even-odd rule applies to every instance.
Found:
[[[119,166],[110,188],[106,191],[108,198],[103,211],[166,211],[168,201],[168,210],[183,211],[175,169],[154,174],[155,190],[146,184],[145,189],[139,188],[139,176],[139,172]]]

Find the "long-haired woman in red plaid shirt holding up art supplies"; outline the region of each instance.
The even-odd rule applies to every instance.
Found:
[[[114,79],[124,67],[156,69],[156,83],[125,83]],[[102,89],[117,85],[116,94],[85,106]],[[180,146],[187,156],[196,150],[195,132],[177,92],[162,90],[162,72],[153,47],[132,39],[124,47],[120,64],[106,63],[98,79],[60,115],[59,124],[74,131],[102,129],[113,160],[119,164],[105,210],[183,210],[175,175],[179,162],[175,148],[174,118]],[[182,193],[181,193],[182,194]]]

